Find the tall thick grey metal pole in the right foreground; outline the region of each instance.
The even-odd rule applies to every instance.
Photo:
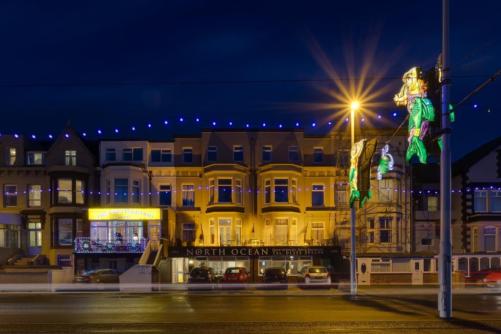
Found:
[[[450,114],[449,114],[449,0],[442,2],[442,154],[440,156],[440,254],[438,257],[438,310],[452,317],[452,245],[450,242]]]

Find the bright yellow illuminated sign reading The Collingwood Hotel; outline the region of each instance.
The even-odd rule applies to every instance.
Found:
[[[89,209],[89,220],[160,220],[159,208]]]

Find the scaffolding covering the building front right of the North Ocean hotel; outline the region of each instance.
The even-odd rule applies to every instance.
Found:
[[[356,241],[358,253],[409,253],[412,251],[411,226],[411,177],[410,166],[405,161],[407,149],[406,133],[394,129],[362,129],[356,138],[376,138],[379,140],[378,150],[374,156],[371,176],[372,198],[364,207],[356,209]],[[342,246],[344,253],[350,249],[350,208],[349,208],[349,169],[350,138],[349,131],[339,129],[333,134],[335,145],[335,209],[334,240]],[[392,145],[391,154],[395,160],[394,170],[383,180],[376,179],[379,163],[380,147],[388,140],[399,145]],[[358,139],[358,140],[359,140]],[[384,186],[381,189],[381,186]]]

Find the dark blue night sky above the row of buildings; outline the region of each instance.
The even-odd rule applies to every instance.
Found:
[[[361,77],[364,63],[368,78],[401,77],[414,66],[431,68],[441,52],[441,2],[415,3],[4,1],[0,85],[329,78],[319,50],[341,78]],[[500,12],[498,2],[451,1],[451,64],[476,51],[452,76],[501,69]],[[451,100],[485,80],[453,79]],[[501,134],[500,81],[457,111],[454,160]],[[405,109],[392,103],[400,86],[399,80],[379,81],[372,102],[381,106],[369,109],[399,111],[402,121]],[[68,119],[91,138],[98,128],[115,127],[120,134],[108,131],[107,137],[129,136],[131,125],[141,129],[137,136],[155,139],[198,133],[192,121],[144,129],[147,122],[179,116],[200,117],[203,127],[212,120],[306,125],[339,110],[318,108],[339,103],[329,92],[339,89],[325,82],[0,88],[0,133],[58,134]]]

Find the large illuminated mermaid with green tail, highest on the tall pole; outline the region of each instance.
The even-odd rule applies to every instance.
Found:
[[[426,163],[428,154],[424,147],[423,139],[426,136],[430,122],[435,120],[435,110],[431,101],[426,98],[428,89],[421,79],[421,68],[415,67],[404,74],[404,85],[400,93],[395,95],[393,101],[397,106],[407,106],[409,118],[409,148],[406,160],[410,161],[417,155],[421,163]],[[440,143],[439,143],[440,145]]]

